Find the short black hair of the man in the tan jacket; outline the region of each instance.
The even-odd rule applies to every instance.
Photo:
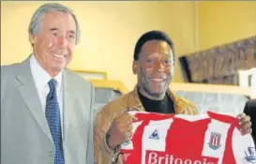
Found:
[[[173,51],[173,61],[175,61],[175,52],[174,52],[174,45],[173,45],[172,39],[166,33],[158,30],[146,32],[143,34],[143,36],[141,36],[138,39],[134,49],[134,53],[133,53],[133,60],[137,61],[139,59],[139,54],[142,51],[143,44],[151,40],[166,41]]]

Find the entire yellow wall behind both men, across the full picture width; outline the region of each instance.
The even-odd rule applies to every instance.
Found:
[[[32,52],[28,24],[45,2],[1,2],[1,65],[22,62]],[[173,38],[176,58],[256,35],[256,2],[61,2],[74,10],[81,30],[69,68],[104,71],[131,90],[137,39],[158,29]],[[178,60],[177,60],[178,61]],[[173,82],[184,82],[180,64]]]

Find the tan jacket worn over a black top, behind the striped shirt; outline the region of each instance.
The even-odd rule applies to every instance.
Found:
[[[198,114],[198,110],[192,102],[173,95],[171,89],[169,89],[167,93],[169,97],[173,99],[176,114]],[[138,96],[137,87],[135,87],[135,89],[129,92],[127,95],[113,100],[104,106],[100,112],[98,112],[94,127],[94,160],[96,164],[122,164],[122,155],[120,155],[118,152],[114,153],[108,148],[105,136],[112,125],[115,115],[118,112],[122,112],[129,108],[144,111],[143,104]],[[115,162],[113,162],[113,160],[115,160]]]

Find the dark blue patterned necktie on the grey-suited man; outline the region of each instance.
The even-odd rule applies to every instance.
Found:
[[[50,127],[55,146],[54,164],[64,164],[60,109],[56,94],[57,82],[52,79],[48,84],[50,86],[50,92],[46,98],[45,116]]]

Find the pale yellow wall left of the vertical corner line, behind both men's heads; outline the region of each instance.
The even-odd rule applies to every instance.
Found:
[[[23,61],[31,52],[27,28],[32,13],[44,2],[1,2],[1,65]],[[63,2],[73,8],[82,28],[72,69],[106,71],[111,80],[132,89],[136,40],[159,29],[172,38],[176,53],[194,51],[194,2]],[[174,82],[182,82],[176,67]]]

